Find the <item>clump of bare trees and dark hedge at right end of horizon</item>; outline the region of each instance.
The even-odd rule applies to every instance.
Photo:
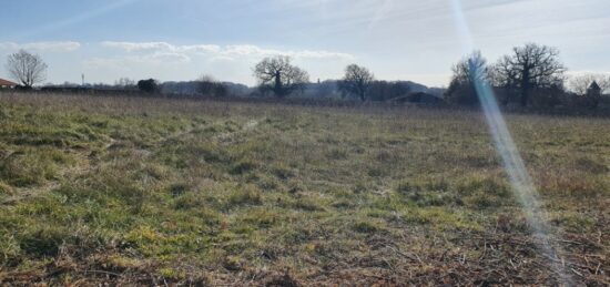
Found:
[[[528,43],[489,64],[480,51],[465,57],[453,66],[453,78],[445,93],[449,103],[477,105],[477,83],[494,88],[501,105],[521,107],[597,109],[610,92],[610,76],[582,74],[567,76],[556,48]]]

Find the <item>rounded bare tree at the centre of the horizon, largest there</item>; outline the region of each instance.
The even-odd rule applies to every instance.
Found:
[[[309,82],[309,75],[291,63],[289,57],[265,58],[254,68],[254,76],[263,88],[270,88],[284,98]]]

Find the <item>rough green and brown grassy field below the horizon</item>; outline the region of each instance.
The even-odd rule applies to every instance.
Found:
[[[509,115],[610,284],[610,120]],[[481,114],[0,94],[0,285],[556,285]]]

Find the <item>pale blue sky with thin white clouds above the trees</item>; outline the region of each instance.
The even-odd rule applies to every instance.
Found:
[[[610,0],[4,0],[0,78],[24,49],[47,82],[120,78],[256,83],[289,55],[312,81],[357,63],[380,80],[446,86],[477,49],[490,61],[527,42],[556,47],[570,73],[610,72]]]

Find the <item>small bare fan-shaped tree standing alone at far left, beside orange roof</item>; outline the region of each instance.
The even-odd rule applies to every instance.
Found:
[[[38,54],[26,50],[10,54],[7,60],[9,74],[26,88],[32,88],[47,79],[47,64]]]

